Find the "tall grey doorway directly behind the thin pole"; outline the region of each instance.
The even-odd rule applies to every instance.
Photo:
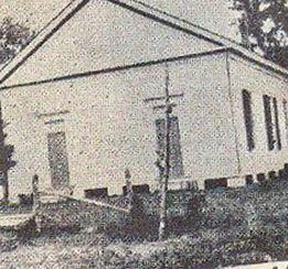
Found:
[[[166,152],[166,120],[156,120],[157,143],[160,152]],[[178,117],[170,118],[170,176],[177,179],[184,175],[183,160],[180,144]]]

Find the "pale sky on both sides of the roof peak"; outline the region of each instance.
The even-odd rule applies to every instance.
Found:
[[[35,31],[43,28],[72,0],[0,0],[0,20],[12,17]],[[96,1],[96,0],[94,0]],[[237,39],[236,28],[230,23],[235,13],[228,9],[231,0],[142,0],[174,15],[190,20],[213,32]],[[216,3],[215,3],[216,2]]]

